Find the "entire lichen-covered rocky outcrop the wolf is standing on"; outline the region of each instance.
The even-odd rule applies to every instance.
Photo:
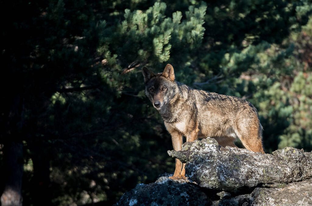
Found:
[[[286,147],[261,154],[206,138],[168,154],[186,163],[187,181],[165,174],[138,184],[116,205],[312,205],[311,152]]]

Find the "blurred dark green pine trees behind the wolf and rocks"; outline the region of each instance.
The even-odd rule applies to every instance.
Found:
[[[250,101],[266,153],[312,149],[309,0],[0,4],[0,193],[24,205],[110,205],[173,172],[143,66]]]

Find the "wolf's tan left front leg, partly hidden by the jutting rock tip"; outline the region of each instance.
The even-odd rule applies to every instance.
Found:
[[[170,131],[172,145],[174,151],[180,151],[182,149],[183,138],[182,134],[176,131]],[[185,173],[181,174],[183,163],[179,159],[175,159],[176,161],[176,168],[174,170],[173,176],[170,176],[170,179],[185,179]]]

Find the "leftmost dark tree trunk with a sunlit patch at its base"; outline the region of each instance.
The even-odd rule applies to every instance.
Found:
[[[23,143],[22,127],[24,103],[20,94],[8,95],[3,106],[1,142],[3,143],[2,206],[22,205]],[[10,101],[11,100],[11,101]]]

